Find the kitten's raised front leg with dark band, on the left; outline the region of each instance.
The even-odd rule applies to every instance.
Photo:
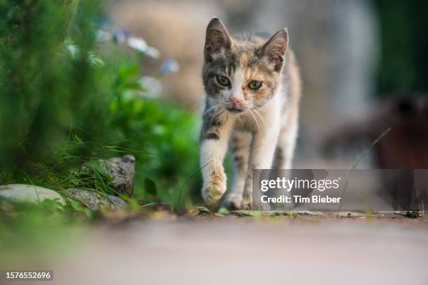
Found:
[[[204,180],[202,198],[209,206],[215,205],[226,191],[227,177],[224,173],[223,159],[233,122],[233,118],[225,112],[217,113],[211,110],[204,115],[200,166]]]

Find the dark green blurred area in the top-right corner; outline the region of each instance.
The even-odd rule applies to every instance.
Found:
[[[427,92],[428,1],[374,3],[380,21],[378,92]]]

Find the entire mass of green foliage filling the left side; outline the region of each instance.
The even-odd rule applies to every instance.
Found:
[[[142,96],[144,55],[98,42],[102,8],[99,1],[0,0],[0,184],[89,187],[73,169],[131,153],[135,197],[178,207],[200,183],[197,119]],[[109,192],[99,177],[91,183]]]

